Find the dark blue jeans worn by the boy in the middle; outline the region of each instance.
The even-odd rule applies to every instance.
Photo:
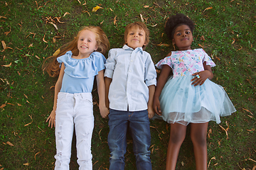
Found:
[[[116,111],[110,109],[110,133],[107,142],[110,147],[110,170],[124,169],[124,154],[127,148],[129,128],[138,170],[151,170],[149,116],[145,111]]]

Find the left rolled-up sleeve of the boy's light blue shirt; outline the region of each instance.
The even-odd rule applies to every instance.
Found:
[[[112,79],[113,73],[114,73],[114,67],[117,64],[117,61],[115,60],[115,58],[117,57],[116,53],[117,52],[114,49],[109,51],[107,62],[105,64],[106,70],[105,70],[104,77],[108,77]]]

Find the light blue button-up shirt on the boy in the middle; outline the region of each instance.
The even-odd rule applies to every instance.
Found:
[[[156,69],[148,52],[124,45],[111,49],[105,64],[105,77],[111,78],[110,108],[143,111],[149,101],[148,86],[156,86]]]

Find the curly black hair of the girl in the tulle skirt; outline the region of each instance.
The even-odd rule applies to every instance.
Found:
[[[186,25],[191,29],[191,32],[193,33],[193,29],[195,28],[193,21],[185,16],[182,13],[177,13],[174,16],[171,16],[165,24],[165,31],[167,34],[167,37],[172,40],[174,38],[174,31],[178,26]]]

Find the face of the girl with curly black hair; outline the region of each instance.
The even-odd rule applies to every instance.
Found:
[[[174,31],[173,43],[178,50],[191,50],[193,35],[191,29],[187,25],[178,26]]]

